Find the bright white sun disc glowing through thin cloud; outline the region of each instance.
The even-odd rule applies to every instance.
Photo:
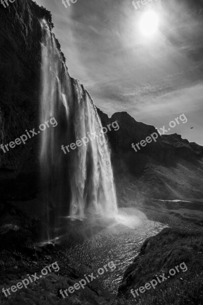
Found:
[[[158,30],[157,14],[153,11],[144,13],[140,20],[140,29],[141,32],[146,36],[155,34]]]

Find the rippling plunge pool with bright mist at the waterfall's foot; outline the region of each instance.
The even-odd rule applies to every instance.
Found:
[[[133,207],[119,208],[118,215],[108,219],[97,215],[84,221],[67,217],[61,221],[63,227],[55,228],[55,233],[65,264],[87,275],[113,261],[116,269],[99,276],[99,285],[110,293],[117,293],[126,268],[139,254],[143,242],[166,227],[148,220]]]

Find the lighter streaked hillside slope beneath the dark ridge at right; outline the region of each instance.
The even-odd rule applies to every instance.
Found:
[[[202,160],[190,163],[179,160],[170,167],[149,162],[137,181],[140,191],[151,198],[194,200],[203,198]]]

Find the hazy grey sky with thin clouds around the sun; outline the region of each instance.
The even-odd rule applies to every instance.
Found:
[[[61,1],[36,0],[51,11],[69,73],[95,105],[156,128],[184,113],[187,123],[168,134],[203,145],[203,0],[145,0],[140,8],[137,0]],[[151,34],[143,33],[146,12],[158,23]]]

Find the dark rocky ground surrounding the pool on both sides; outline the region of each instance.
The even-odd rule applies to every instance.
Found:
[[[143,286],[151,281],[155,274],[162,274],[184,261],[188,266],[187,272],[163,283],[156,290],[142,294],[140,304],[151,304],[151,299],[154,304],[169,305],[172,303],[171,300],[173,304],[202,304],[202,204],[196,203],[194,209],[195,205],[184,202],[168,201],[163,206],[162,201],[143,199],[142,204],[140,201],[140,205],[133,205],[144,211],[148,218],[165,223],[172,229],[164,229],[145,241],[139,256],[125,272],[123,283],[118,287],[118,296],[108,295],[99,282],[94,282],[87,285],[84,290],[80,289],[71,297],[63,299],[58,291],[74,285],[84,275],[80,270],[70,268],[60,245],[48,245],[43,248],[36,246],[39,224],[42,222],[40,202],[10,202],[9,208],[2,210],[0,218],[1,303],[131,304],[134,303],[132,295],[129,294],[131,288]],[[190,218],[188,221],[186,209],[188,215],[199,210],[199,221],[197,222],[197,215],[196,220]],[[181,217],[178,218],[178,215]],[[79,234],[74,238],[70,236],[70,245],[77,238],[81,238]],[[18,290],[8,297],[2,293],[4,287],[16,285],[27,278],[27,274],[39,274],[43,267],[55,261],[60,266],[57,272],[48,273],[47,276],[28,285],[27,289]],[[180,297],[175,300],[173,294]]]

